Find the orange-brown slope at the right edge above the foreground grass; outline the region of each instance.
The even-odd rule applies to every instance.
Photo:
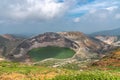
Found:
[[[93,63],[94,66],[114,66],[120,67],[120,48],[110,52],[107,56],[103,57],[101,60]]]

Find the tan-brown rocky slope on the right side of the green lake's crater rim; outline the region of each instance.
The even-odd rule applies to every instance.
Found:
[[[110,48],[110,45],[93,37],[88,37],[81,32],[59,32],[59,34],[75,41],[80,46],[74,56],[75,58],[95,58]]]

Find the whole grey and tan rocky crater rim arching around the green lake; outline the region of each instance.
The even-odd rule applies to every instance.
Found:
[[[73,58],[79,60],[96,58],[110,48],[102,41],[88,37],[81,32],[49,32],[24,40],[11,51],[8,57],[25,61],[29,59],[28,51],[46,46],[71,48],[76,52]]]

